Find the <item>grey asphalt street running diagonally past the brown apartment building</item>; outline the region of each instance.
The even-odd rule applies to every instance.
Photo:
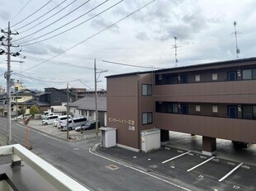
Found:
[[[7,134],[7,119],[0,118],[0,130],[1,136]],[[92,154],[89,149],[99,140],[65,142],[31,129],[29,142],[32,152],[92,190],[197,190],[181,181],[176,184],[165,177]],[[26,128],[14,122],[12,143],[26,146]],[[110,165],[117,169],[109,168]]]

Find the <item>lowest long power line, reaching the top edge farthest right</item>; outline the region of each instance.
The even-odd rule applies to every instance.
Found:
[[[156,1],[156,0],[153,0],[153,1],[150,1],[150,2],[146,3],[144,6],[140,7],[139,9],[135,10],[134,12],[131,12],[130,14],[128,14],[127,16],[125,16],[125,17],[121,18],[120,20],[114,22],[114,23],[111,24],[110,26],[105,27],[104,29],[98,31],[98,32],[95,33],[94,35],[91,35],[91,36],[88,37],[87,39],[82,40],[82,41],[80,41],[78,44],[75,44],[75,45],[71,46],[69,49],[66,49],[66,50],[64,50],[63,52],[61,52],[61,53],[59,53],[59,54],[56,54],[55,56],[53,56],[53,57],[51,57],[51,58],[49,58],[49,59],[46,59],[44,62],[38,63],[38,64],[36,64],[35,66],[33,66],[33,67],[31,67],[31,68],[36,68],[36,67],[40,66],[40,64],[42,64],[42,63],[47,63],[48,61],[52,60],[53,58],[56,58],[56,57],[58,57],[59,55],[66,53],[66,52],[69,51],[70,49],[73,49],[73,48],[77,47],[79,44],[83,44],[84,42],[86,42],[86,41],[92,39],[94,36],[99,35],[99,34],[101,34],[103,31],[105,31],[105,30],[111,28],[112,26],[115,26],[115,25],[118,24],[119,22],[124,21],[126,18],[128,18],[129,16],[135,14],[136,12],[140,12],[141,9],[143,9],[143,8],[145,8],[145,7],[147,7],[147,6],[149,6],[149,4],[151,4],[151,3],[155,2],[155,1]],[[31,68],[27,68],[25,71],[28,71],[28,70],[30,70]],[[25,72],[25,71],[23,71],[23,72]]]

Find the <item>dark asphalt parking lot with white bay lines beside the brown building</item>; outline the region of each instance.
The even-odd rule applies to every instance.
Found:
[[[136,153],[120,147],[100,147],[98,151],[140,165],[147,171],[153,170],[177,181],[181,179],[199,189],[256,190],[256,167],[243,162],[166,146],[149,153]]]

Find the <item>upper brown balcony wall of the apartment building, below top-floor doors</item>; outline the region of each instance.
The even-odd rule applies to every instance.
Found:
[[[157,101],[229,104],[256,103],[256,80],[153,86]]]

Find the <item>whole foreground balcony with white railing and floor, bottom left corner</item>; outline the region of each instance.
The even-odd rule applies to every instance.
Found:
[[[0,190],[2,191],[88,191],[82,184],[19,144],[0,147],[0,156],[10,155],[12,156],[11,165],[0,165]]]

